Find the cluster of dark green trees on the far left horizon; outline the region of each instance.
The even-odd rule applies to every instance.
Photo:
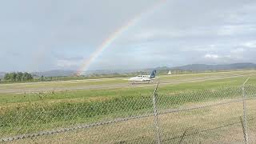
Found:
[[[4,80],[6,82],[26,82],[33,80],[33,75],[29,73],[22,73],[22,72],[13,72],[13,73],[6,73]]]

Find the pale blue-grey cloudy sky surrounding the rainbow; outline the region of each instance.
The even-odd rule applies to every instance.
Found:
[[[79,70],[134,18],[86,70],[256,61],[256,1],[159,1],[1,1],[0,71]]]

